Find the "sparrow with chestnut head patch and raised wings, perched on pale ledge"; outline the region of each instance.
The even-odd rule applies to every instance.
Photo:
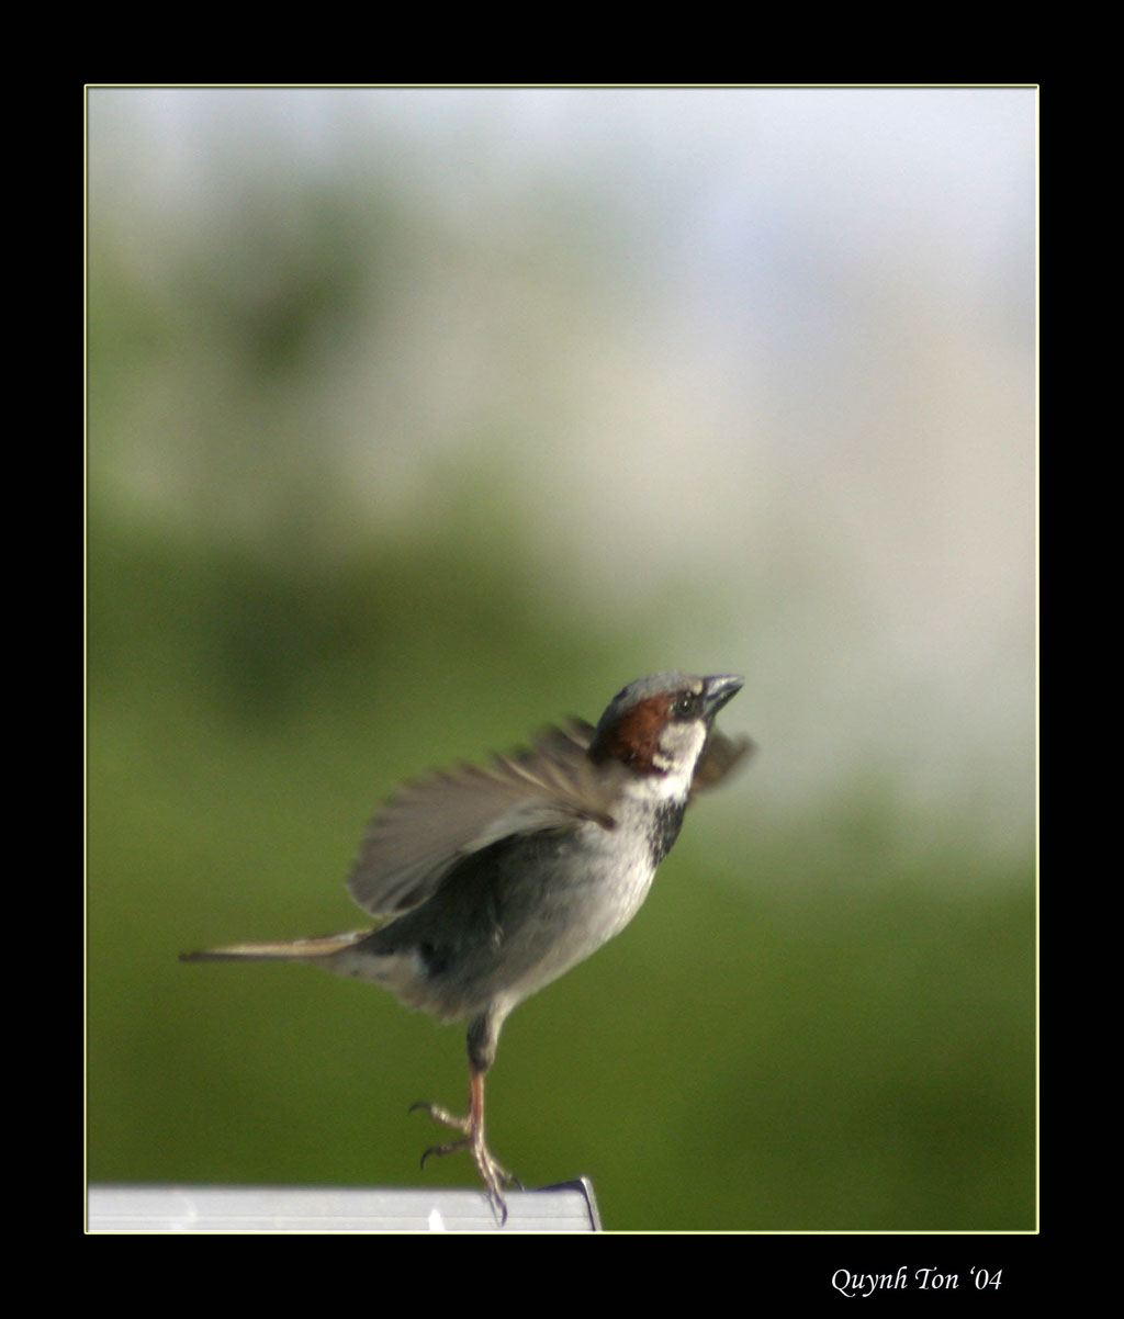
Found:
[[[373,930],[237,943],[182,960],[285,960],[373,980],[408,1008],[468,1022],[468,1112],[414,1104],[460,1133],[500,1225],[518,1186],[484,1138],[484,1078],[512,1009],[619,934],[640,910],[694,793],[747,737],[714,719],[743,678],[658,673],[623,687],[596,727],[571,719],[530,749],[406,783],[376,813],[347,881]]]

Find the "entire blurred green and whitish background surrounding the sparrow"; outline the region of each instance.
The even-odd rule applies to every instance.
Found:
[[[88,92],[94,1181],[475,1184],[361,926],[402,778],[741,671],[759,754],[511,1018],[613,1229],[1036,1223],[1022,91]]]

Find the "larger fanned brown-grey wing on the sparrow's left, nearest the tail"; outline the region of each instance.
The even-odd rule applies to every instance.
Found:
[[[408,783],[371,820],[347,888],[371,915],[423,902],[455,863],[511,834],[596,820],[612,828],[619,774],[586,756],[588,725],[549,728],[530,751]]]

